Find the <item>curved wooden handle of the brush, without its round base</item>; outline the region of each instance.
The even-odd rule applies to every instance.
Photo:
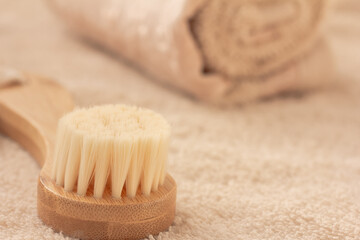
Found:
[[[69,92],[55,82],[33,75],[26,78],[0,88],[0,130],[43,166],[51,159],[57,122],[73,110],[74,103]]]

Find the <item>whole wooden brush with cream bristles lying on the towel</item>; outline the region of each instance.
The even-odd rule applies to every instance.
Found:
[[[70,94],[48,79],[27,75],[26,83],[0,88],[0,130],[42,166],[42,221],[81,239],[139,239],[166,230],[176,200],[166,174],[166,121],[125,105],[72,109]]]

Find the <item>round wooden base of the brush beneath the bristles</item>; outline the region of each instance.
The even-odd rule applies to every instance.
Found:
[[[91,193],[89,193],[90,195]],[[175,216],[176,184],[165,183],[150,196],[102,198],[66,192],[47,176],[39,177],[38,215],[55,231],[81,239],[141,239],[168,229]]]

